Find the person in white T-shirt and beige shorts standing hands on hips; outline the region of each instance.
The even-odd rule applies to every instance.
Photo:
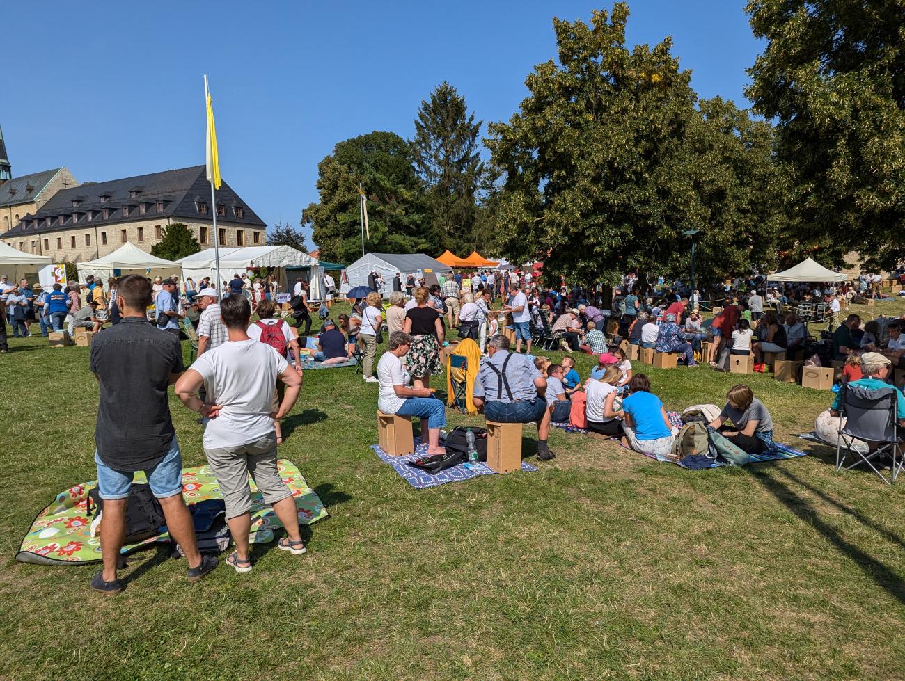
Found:
[[[293,555],[305,553],[295,499],[278,468],[274,432],[274,421],[288,414],[299,398],[301,374],[273,346],[249,336],[252,307],[241,294],[224,298],[220,314],[229,340],[195,360],[176,382],[176,395],[188,409],[204,413],[205,403],[197,397],[204,384],[209,399],[218,406],[216,418],[205,426],[205,457],[223,494],[226,522],[235,542],[235,551],[226,563],[243,573],[252,572],[249,475],[286,529],[277,548]],[[286,389],[281,402],[274,405],[273,388],[278,379]]]

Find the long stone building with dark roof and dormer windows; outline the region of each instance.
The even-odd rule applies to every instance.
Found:
[[[0,185],[0,196],[3,189]],[[202,248],[209,248],[214,245],[214,211],[220,245],[266,242],[264,222],[225,182],[211,205],[205,166],[62,189],[37,211],[22,215],[0,240],[54,262],[78,262],[107,255],[126,241],[149,252],[167,225],[183,222]]]

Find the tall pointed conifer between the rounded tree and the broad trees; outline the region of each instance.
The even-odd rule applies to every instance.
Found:
[[[481,182],[481,121],[445,80],[422,100],[414,120],[412,156],[426,187],[426,206],[438,247],[467,255],[482,246],[475,232]]]

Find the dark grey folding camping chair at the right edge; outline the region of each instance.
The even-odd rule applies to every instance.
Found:
[[[898,392],[893,387],[871,389],[848,383],[843,383],[841,391],[839,411],[845,419],[845,425],[839,430],[839,441],[836,444],[836,472],[843,470],[843,467],[848,470],[866,463],[883,482],[891,485],[903,466],[900,456],[901,429],[896,419]],[[863,440],[877,448],[862,452],[856,449],[853,440]],[[848,452],[856,454],[858,460],[845,466]],[[873,465],[873,459],[887,454],[892,457],[891,480],[882,474],[882,468],[878,469]]]

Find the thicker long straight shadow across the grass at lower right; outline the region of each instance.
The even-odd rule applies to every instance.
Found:
[[[877,582],[879,586],[888,591],[902,605],[905,605],[905,581],[895,572],[892,572],[889,567],[869,553],[863,552],[854,544],[843,539],[843,536],[839,534],[833,525],[829,525],[821,519],[814,506],[799,497],[792,489],[776,478],[767,475],[766,471],[752,469],[751,476],[800,520],[814,527],[820,534],[823,534],[824,538],[830,544],[833,544],[840,553],[853,560],[864,574],[874,582]]]

